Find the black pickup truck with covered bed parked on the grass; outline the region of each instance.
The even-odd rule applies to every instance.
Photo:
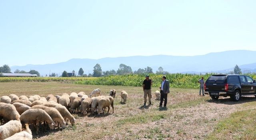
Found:
[[[256,96],[256,81],[246,75],[212,75],[206,80],[204,90],[212,99],[230,96],[238,101],[241,96]]]

